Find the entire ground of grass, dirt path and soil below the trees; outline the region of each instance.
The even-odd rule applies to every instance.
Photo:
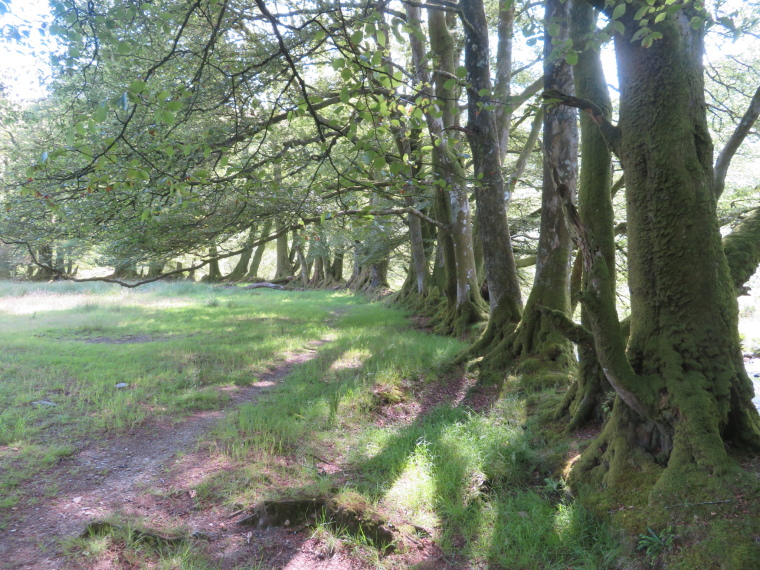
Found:
[[[342,293],[0,284],[0,568],[636,569],[680,547],[636,550],[566,493],[599,426],[534,432],[561,390],[478,386],[418,325]],[[323,506],[262,514],[294,500]]]

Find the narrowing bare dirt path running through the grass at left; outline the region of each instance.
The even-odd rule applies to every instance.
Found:
[[[156,528],[179,524],[201,533],[230,562],[244,555],[240,551],[250,545],[251,536],[225,524],[228,512],[197,510],[191,488],[225,467],[197,444],[226,413],[255,401],[294,366],[315,358],[316,348],[329,340],[311,342],[305,350],[288,354],[251,386],[225,388],[231,400],[224,409],[198,412],[180,423],[154,421],[131,433],[93,442],[41,479],[25,484],[38,501],[34,505],[20,502],[13,508],[13,517],[0,532],[0,567],[66,568],[61,541],[79,536],[90,522],[114,513],[142,517]],[[57,484],[60,491],[48,499],[43,489],[51,484]],[[132,567],[122,564],[118,553],[106,565],[101,559],[95,566],[88,566],[86,560],[75,566]]]

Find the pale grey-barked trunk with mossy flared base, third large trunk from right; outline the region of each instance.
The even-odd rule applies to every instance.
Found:
[[[570,2],[560,0],[549,0],[545,5],[546,22],[560,23],[557,35],[552,37],[548,31],[545,33],[546,89],[573,90],[572,67],[564,58],[550,57],[555,43],[569,38],[570,5]],[[506,311],[497,307],[492,315],[494,322],[468,352],[468,356],[483,354],[478,367],[484,381],[499,380],[516,365],[522,382],[531,385],[567,383],[575,372],[575,356],[570,341],[544,314],[544,309],[565,314],[570,310],[571,240],[551,173],[555,168],[559,170],[562,180],[574,192],[578,135],[573,109],[554,106],[546,110],[544,149],[541,223],[533,287],[519,324],[515,327],[515,319],[508,319]]]

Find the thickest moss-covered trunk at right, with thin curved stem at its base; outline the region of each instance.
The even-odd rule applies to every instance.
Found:
[[[593,113],[625,171],[630,339],[626,354],[615,299],[603,285],[607,262],[577,220],[588,270],[582,302],[617,399],[571,483],[606,501],[640,504],[643,494],[656,506],[731,493],[726,445],[760,450],[760,416],[716,213],[703,30],[691,25],[700,13],[682,5],[653,25],[662,37],[645,48],[631,41],[640,28],[633,14],[645,6],[629,6],[620,19],[625,33],[615,38],[619,128]]]

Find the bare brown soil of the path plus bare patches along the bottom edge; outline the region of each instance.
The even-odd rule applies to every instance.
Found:
[[[341,544],[330,545],[314,536],[305,525],[296,528],[240,526],[237,521],[246,516],[247,510],[231,512],[226,506],[208,506],[195,496],[198,483],[228,467],[217,454],[207,451],[204,436],[225,413],[256,400],[294,366],[315,358],[315,348],[329,340],[310,343],[305,350],[286,355],[255,384],[225,388],[231,398],[224,409],[196,412],[179,422],[170,418],[156,419],[126,434],[90,442],[39,479],[24,483],[24,497],[34,498],[19,501],[6,519],[5,529],[0,531],[0,567],[14,570],[137,568],[119,541],[112,541],[107,552],[91,561],[81,550],[68,557],[64,553],[65,544],[86,534],[88,528],[111,528],[99,521],[134,519],[139,519],[141,525],[156,536],[165,536],[162,529],[166,528],[186,529],[185,536],[193,537],[190,540],[223,569],[373,567],[372,557],[366,552],[353,552]],[[436,384],[441,388],[447,385]],[[423,401],[434,404],[448,399],[454,396],[448,393],[452,389],[457,392],[455,398],[461,400],[466,384],[469,382],[456,388],[449,386],[440,394],[430,393]],[[46,498],[46,493],[56,487],[60,491]],[[384,565],[420,570],[462,568],[456,560],[447,560],[428,536],[410,538],[384,559]]]

